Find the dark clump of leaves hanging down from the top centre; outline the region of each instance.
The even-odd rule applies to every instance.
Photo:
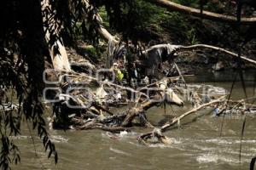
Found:
[[[104,6],[109,20],[109,26],[119,32],[124,41],[132,42],[143,39],[142,32],[150,24],[156,9],[143,0],[91,1],[96,7]]]

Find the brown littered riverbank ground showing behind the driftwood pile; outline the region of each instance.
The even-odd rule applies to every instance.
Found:
[[[90,68],[104,68],[106,63],[106,52],[108,44],[102,43],[99,47],[99,54],[96,54],[96,48],[85,42],[79,42],[79,48],[67,48],[67,55],[71,64],[88,64]],[[256,55],[251,53],[248,58],[256,59]],[[206,51],[187,51],[177,55],[175,62],[179,66],[183,75],[199,75],[202,72],[222,72],[237,71],[238,65],[236,59],[227,54],[221,54]],[[253,70],[256,65],[241,60],[241,70]]]

